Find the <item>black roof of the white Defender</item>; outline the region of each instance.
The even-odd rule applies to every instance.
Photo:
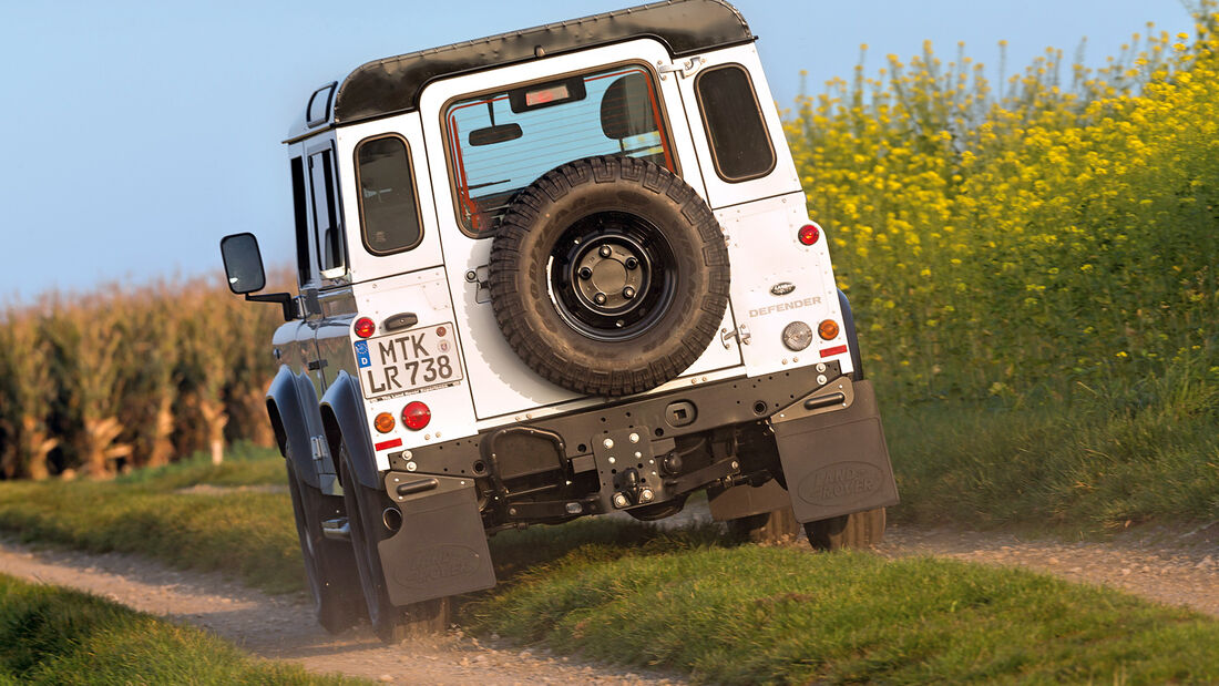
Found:
[[[356,68],[336,93],[332,91],[333,115],[323,119],[306,113],[290,136],[322,124],[351,124],[417,110],[423,88],[438,78],[634,38],[655,38],[674,57],[755,40],[745,18],[725,0],[666,0],[430,48]]]

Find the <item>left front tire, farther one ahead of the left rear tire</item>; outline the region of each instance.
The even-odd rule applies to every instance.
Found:
[[[335,503],[329,502],[336,498],[322,495],[296,476],[290,458],[285,463],[288,490],[291,493],[293,514],[296,519],[296,536],[300,540],[305,576],[313,601],[313,615],[323,629],[330,634],[339,634],[364,618],[360,576],[351,546],[322,535],[322,520],[341,517],[343,512]]]

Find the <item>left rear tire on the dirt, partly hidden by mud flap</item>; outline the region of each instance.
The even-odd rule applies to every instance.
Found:
[[[452,615],[449,598],[405,607],[390,603],[377,543],[391,535],[382,523],[382,512],[393,503],[380,490],[368,489],[356,480],[346,446],[339,448],[339,463],[343,470],[343,498],[351,526],[351,547],[373,632],[385,643],[396,645],[412,636],[444,631]]]

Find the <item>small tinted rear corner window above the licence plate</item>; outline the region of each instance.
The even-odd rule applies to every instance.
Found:
[[[423,234],[406,141],[393,135],[361,141],[356,178],[364,247],[388,255],[418,245]]]

